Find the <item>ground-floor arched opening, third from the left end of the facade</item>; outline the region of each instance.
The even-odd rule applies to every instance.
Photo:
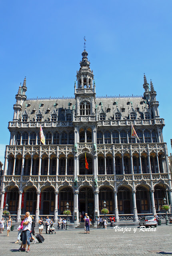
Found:
[[[55,194],[53,188],[46,188],[42,191],[43,214],[52,214],[54,212]]]

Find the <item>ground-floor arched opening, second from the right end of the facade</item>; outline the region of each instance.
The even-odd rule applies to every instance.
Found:
[[[136,188],[136,205],[138,213],[148,211],[148,191],[142,186]]]

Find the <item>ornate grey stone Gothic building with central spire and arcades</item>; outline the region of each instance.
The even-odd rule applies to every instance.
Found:
[[[26,78],[9,122],[0,212],[20,221],[26,211],[54,215],[66,209],[78,224],[79,212],[99,215],[106,201],[116,221],[161,212],[172,202],[164,119],[152,82],[144,75],[144,96],[96,97],[93,71],[82,52],[73,98],[27,99]],[[138,134],[130,138],[130,126]],[[46,145],[40,144],[40,125]],[[88,170],[85,168],[85,152]]]

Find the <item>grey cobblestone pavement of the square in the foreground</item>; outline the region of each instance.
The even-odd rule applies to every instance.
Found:
[[[119,227],[120,228],[120,227]],[[30,246],[32,256],[158,256],[172,254],[172,225],[152,228],[156,231],[142,231],[137,227],[92,229],[84,234],[83,229],[57,230],[56,234],[43,234],[43,244]],[[123,229],[122,229],[123,228]],[[130,230],[130,231],[129,231]],[[148,228],[146,228],[148,230]],[[36,230],[37,231],[37,230]],[[45,230],[43,230],[43,233]],[[14,244],[17,231],[6,236],[0,234],[0,256],[18,256],[19,244]]]

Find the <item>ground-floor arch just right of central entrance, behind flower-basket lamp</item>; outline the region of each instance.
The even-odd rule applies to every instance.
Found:
[[[106,201],[106,207],[109,210],[109,214],[113,214],[113,210],[114,210],[114,195],[113,195],[113,191],[110,188],[100,188],[100,192],[98,194],[99,197],[99,210],[101,212],[101,210],[104,208],[104,204],[103,202]]]

